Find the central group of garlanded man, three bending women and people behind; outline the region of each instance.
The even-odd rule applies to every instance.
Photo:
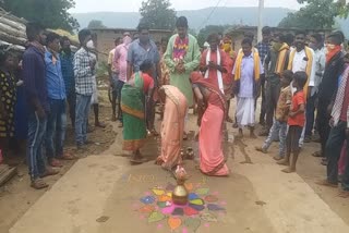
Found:
[[[110,51],[110,83],[112,87],[117,86],[116,93],[121,93],[118,95],[121,108],[118,115],[123,126],[123,149],[132,152],[132,163],[147,161],[141,148],[147,135],[158,135],[154,120],[156,103],[160,102],[161,149],[156,163],[169,171],[182,167],[188,112],[196,99],[201,119],[198,140],[205,145],[200,147],[201,170],[208,175],[228,175],[221,143],[227,115],[224,93],[228,84],[232,84],[233,60],[229,56],[232,48],[228,46],[227,51],[218,49],[220,39],[212,35],[209,44],[213,49],[206,51],[204,58],[196,38],[188,34],[188,20],[181,16],[176,25],[177,34],[169,39],[161,39],[160,49],[151,39],[149,27],[141,22],[139,38],[131,42],[127,33],[123,40],[128,42]],[[117,64],[117,69],[113,69],[116,72],[111,69],[113,64]],[[122,78],[122,74],[125,74],[125,78]],[[121,85],[115,85],[120,82]],[[227,93],[231,96],[231,91]]]

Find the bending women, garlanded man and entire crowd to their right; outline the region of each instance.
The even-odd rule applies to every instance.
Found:
[[[156,163],[167,170],[181,167],[188,109],[196,105],[200,169],[207,175],[228,175],[221,144],[225,122],[231,122],[230,100],[237,99],[232,126],[239,128],[239,136],[248,127],[255,137],[255,111],[262,96],[260,136],[267,138],[256,149],[266,154],[279,140],[274,159],[290,173],[296,171],[303,144],[318,135],[321,151],[313,156],[323,157],[328,171],[327,180],[320,183],[335,186],[341,182],[347,194],[349,70],[344,34],[298,30],[284,35],[264,27],[261,42],[254,46],[253,35],[246,34],[236,53],[231,38],[217,34],[208,36],[209,46],[201,51],[188,28],[186,19],[179,17],[177,34],[159,42],[158,50],[148,27],[140,23],[140,38],[128,47],[121,109],[123,148],[132,151],[131,162],[146,161],[141,148],[147,132],[156,134],[154,108],[159,101],[164,113]]]

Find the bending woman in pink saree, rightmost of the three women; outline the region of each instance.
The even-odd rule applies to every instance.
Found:
[[[212,176],[227,176],[229,169],[222,152],[226,98],[198,72],[191,75],[198,107],[204,109],[198,134],[200,170]]]

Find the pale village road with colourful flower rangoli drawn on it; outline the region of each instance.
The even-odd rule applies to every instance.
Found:
[[[192,131],[196,130],[195,122],[191,116]],[[272,156],[277,152],[276,144],[270,155],[254,151],[263,138],[246,137],[228,145],[229,177],[203,176],[194,161],[186,161],[192,205],[177,207],[168,204],[176,185],[171,175],[153,162],[131,167],[121,150],[121,130],[112,126],[117,135],[109,149],[79,160],[49,191],[40,193],[40,198],[32,199],[15,223],[3,229],[11,228],[11,233],[349,230],[349,201],[336,197],[335,189],[314,184],[325,174],[320,161],[311,157],[315,144],[305,146],[297,174],[284,174],[275,164]],[[230,135],[236,133],[231,125],[229,128]],[[185,146],[195,150],[196,143],[189,140]],[[154,159],[157,150],[157,139],[151,138],[143,154]],[[0,200],[0,205],[2,210],[7,203]],[[2,218],[5,214],[1,213]]]

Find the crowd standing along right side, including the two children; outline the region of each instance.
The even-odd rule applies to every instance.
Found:
[[[264,42],[269,42],[265,39],[269,36],[269,28],[265,27]],[[349,70],[345,36],[338,30],[326,38],[301,30],[294,36],[290,40],[289,36],[274,35],[262,60],[265,70],[262,112],[266,113],[266,124],[261,136],[267,135],[267,139],[256,149],[267,152],[270,144],[279,140],[279,154],[274,159],[288,165],[284,172],[294,172],[303,144],[320,142],[321,150],[313,156],[322,157],[327,179],[317,183],[334,187],[341,183],[340,196],[348,197]]]

